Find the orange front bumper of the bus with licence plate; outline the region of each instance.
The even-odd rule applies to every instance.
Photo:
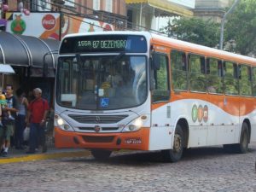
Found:
[[[148,150],[149,128],[134,132],[83,133],[55,127],[55,148],[105,148]]]

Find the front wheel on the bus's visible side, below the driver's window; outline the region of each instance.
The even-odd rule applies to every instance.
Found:
[[[181,125],[177,125],[174,135],[173,148],[161,151],[163,159],[167,162],[177,162],[180,160],[183,156],[183,143],[183,129]]]

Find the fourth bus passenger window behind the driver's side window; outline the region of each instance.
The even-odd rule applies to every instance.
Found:
[[[238,95],[237,65],[230,61],[224,61],[224,87],[225,93]]]

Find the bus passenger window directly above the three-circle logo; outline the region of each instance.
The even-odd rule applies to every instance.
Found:
[[[201,55],[189,55],[189,88],[191,91],[206,91],[206,62]]]

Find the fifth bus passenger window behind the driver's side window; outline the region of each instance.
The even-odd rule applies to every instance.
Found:
[[[240,94],[252,96],[251,67],[240,65]]]

